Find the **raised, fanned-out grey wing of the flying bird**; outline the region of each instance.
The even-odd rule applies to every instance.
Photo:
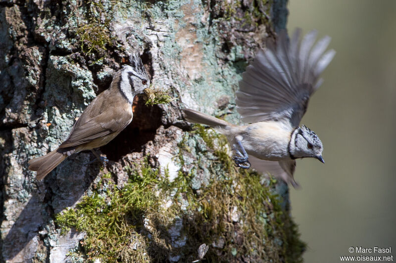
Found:
[[[286,31],[277,44],[260,50],[247,66],[236,92],[237,110],[245,123],[287,119],[297,127],[304,115],[309,97],[322,83],[319,75],[335,55],[326,53],[330,37],[315,45],[317,32],[306,34],[301,43],[297,29],[288,41]]]

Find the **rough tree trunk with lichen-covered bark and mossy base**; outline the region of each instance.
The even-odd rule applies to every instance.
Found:
[[[191,262],[206,244],[203,261],[300,261],[287,186],[237,170],[223,137],[180,114],[238,123],[239,74],[286,17],[286,0],[1,0],[0,260]],[[177,99],[138,98],[100,148],[106,165],[82,152],[37,181],[27,161],[67,137],[137,46]]]

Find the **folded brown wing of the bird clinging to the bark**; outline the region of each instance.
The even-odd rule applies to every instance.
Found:
[[[91,106],[91,105],[89,105]],[[130,104],[126,104],[126,108]],[[74,147],[94,139],[121,132],[132,120],[132,108],[130,112],[125,107],[105,107],[107,110],[93,118],[87,118],[83,112],[74,124],[69,137],[59,145],[59,148]]]

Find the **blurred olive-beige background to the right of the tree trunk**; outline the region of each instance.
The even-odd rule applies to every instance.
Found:
[[[341,262],[349,247],[390,247],[396,261],[396,1],[290,0],[288,30],[332,37],[337,54],[302,119],[325,165],[297,161],[292,215],[307,263]],[[391,254],[385,254],[390,256]]]

